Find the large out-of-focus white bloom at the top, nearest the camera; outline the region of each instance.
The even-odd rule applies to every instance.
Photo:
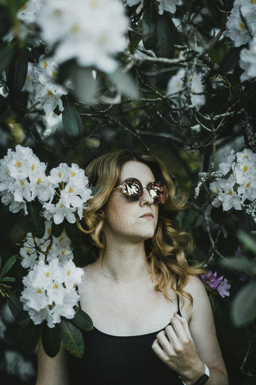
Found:
[[[81,66],[112,72],[116,68],[113,56],[127,46],[129,18],[116,0],[46,0],[37,23],[49,48],[58,43],[55,58],[59,63],[76,59]]]

